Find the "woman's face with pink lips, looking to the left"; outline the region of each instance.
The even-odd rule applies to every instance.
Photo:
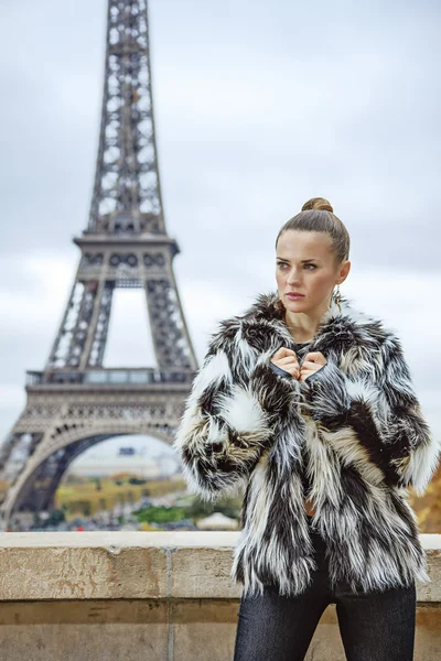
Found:
[[[334,286],[349,272],[351,262],[343,264],[336,270],[330,235],[297,229],[283,231],[277,243],[276,280],[286,308],[306,312],[327,305]],[[287,297],[289,292],[304,296],[292,300]]]

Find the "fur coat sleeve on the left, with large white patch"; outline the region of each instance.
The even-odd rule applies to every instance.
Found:
[[[269,369],[277,348],[259,354],[222,332],[208,346],[173,441],[190,490],[204,500],[244,484],[271,447],[278,416],[298,400],[299,382]]]

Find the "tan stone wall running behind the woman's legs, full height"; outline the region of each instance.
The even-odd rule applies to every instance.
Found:
[[[232,661],[237,532],[0,534],[0,658],[8,661]],[[422,534],[416,661],[441,658],[441,534]],[[308,661],[344,660],[322,615]]]

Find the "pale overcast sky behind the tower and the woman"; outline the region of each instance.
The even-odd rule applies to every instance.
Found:
[[[44,367],[79,257],[106,6],[0,6],[0,440],[25,370]],[[400,336],[441,433],[439,2],[149,7],[165,220],[200,361],[217,321],[276,289],[279,228],[323,196],[352,240],[342,293]],[[146,314],[140,292],[117,292],[107,366],[151,365]]]

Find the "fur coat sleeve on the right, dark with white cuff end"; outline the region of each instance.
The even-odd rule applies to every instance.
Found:
[[[344,375],[332,355],[312,377],[305,380],[312,418],[327,431],[351,426],[388,484],[422,496],[441,447],[422,415],[400,340],[389,334],[370,369],[357,377]]]

